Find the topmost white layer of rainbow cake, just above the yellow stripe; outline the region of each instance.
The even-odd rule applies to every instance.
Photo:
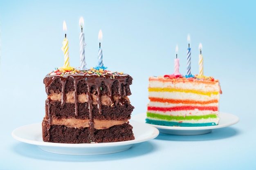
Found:
[[[210,80],[208,80],[210,81]],[[198,83],[197,83],[198,82]],[[148,87],[149,88],[175,88],[175,89],[190,89],[190,90],[199,90],[206,92],[215,92],[220,91],[219,82],[206,83],[206,80],[200,82],[186,81],[186,82],[163,82],[163,81],[154,81],[150,80]]]

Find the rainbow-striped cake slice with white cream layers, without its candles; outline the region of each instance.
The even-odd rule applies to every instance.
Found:
[[[146,123],[163,126],[214,126],[219,124],[217,79],[205,76],[149,77]]]

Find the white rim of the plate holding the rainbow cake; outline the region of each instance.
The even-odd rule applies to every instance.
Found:
[[[144,116],[144,120],[145,120],[146,119],[146,113],[137,114],[133,117],[132,120],[138,121],[138,120],[136,120],[136,119],[138,119],[137,117],[140,118],[140,117],[142,117],[142,115],[145,115]],[[157,129],[164,129],[164,130],[211,130],[211,129],[225,128],[227,126],[234,125],[234,124],[236,124],[240,121],[239,117],[236,116],[236,115],[233,115],[231,113],[219,112],[220,122],[221,122],[221,118],[223,118],[223,115],[227,116],[227,117],[232,117],[233,118],[232,121],[230,121],[226,124],[218,124],[218,125],[215,125],[215,126],[195,126],[195,127],[161,126],[161,125],[148,124],[148,123],[146,123],[146,121],[144,123],[148,124],[150,126],[153,126]],[[139,120],[139,122],[141,122],[141,121],[142,120]]]

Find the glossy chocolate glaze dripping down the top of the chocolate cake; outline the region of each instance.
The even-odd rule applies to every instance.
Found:
[[[102,96],[107,95],[109,97],[111,106],[113,104],[125,105],[128,101],[123,97],[127,95],[131,95],[129,85],[132,84],[132,77],[130,77],[130,75],[128,74],[119,75],[119,76],[116,75],[115,78],[112,77],[112,75],[104,75],[99,77],[98,75],[84,75],[84,73],[79,73],[76,75],[63,75],[63,76],[46,75],[44,79],[44,84],[45,84],[45,91],[47,95],[52,93],[52,91],[54,93],[61,93],[62,107],[65,105],[65,102],[66,102],[65,93],[68,93],[69,91],[74,90],[74,100],[75,100],[74,103],[75,103],[76,116],[78,115],[78,95],[81,93],[87,94],[88,110],[90,111],[90,114],[89,114],[90,137],[89,138],[91,141],[94,141],[94,135],[93,135],[94,121],[92,116],[93,104],[95,104],[95,102],[97,103],[99,114],[101,114],[101,97]],[[79,84],[79,88],[78,88],[78,84]],[[81,88],[80,86],[84,88]],[[46,102],[46,107],[47,107],[46,113],[47,113],[47,116],[49,117],[49,121],[51,121],[49,100],[50,99],[47,99],[47,102]]]

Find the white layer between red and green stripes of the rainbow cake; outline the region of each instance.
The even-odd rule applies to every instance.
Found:
[[[171,116],[202,116],[202,115],[217,115],[219,111],[212,111],[212,110],[178,110],[178,111],[157,111],[157,110],[147,110],[148,113],[156,113],[159,115],[171,115]]]

